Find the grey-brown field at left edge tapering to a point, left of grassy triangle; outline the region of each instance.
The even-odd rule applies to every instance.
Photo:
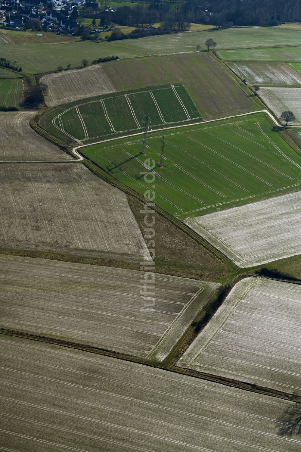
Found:
[[[127,197],[77,163],[2,165],[0,247],[150,259]]]

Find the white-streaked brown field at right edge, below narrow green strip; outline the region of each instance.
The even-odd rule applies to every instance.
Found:
[[[229,63],[228,66],[247,83],[300,85],[301,75],[286,63]]]

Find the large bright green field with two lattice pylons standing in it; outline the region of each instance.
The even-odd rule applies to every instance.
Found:
[[[263,113],[165,131],[165,167],[154,169],[155,202],[180,218],[287,193],[301,184],[301,156]],[[121,183],[143,195],[152,186],[141,171],[159,161],[163,132],[81,149]]]

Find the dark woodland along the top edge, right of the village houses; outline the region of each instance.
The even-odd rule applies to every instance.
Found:
[[[92,15],[91,15],[92,14]],[[232,25],[275,26],[301,21],[301,0],[179,0],[177,3],[153,0],[149,4],[120,6],[115,12],[86,10],[84,17],[99,19],[100,26],[111,22],[131,27],[160,23],[165,33],[187,31],[191,22],[219,27]]]

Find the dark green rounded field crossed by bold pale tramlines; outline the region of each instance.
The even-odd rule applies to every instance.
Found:
[[[146,115],[151,127],[201,119],[185,87],[176,84],[73,105],[53,118],[52,124],[75,141],[87,141],[141,130]]]

